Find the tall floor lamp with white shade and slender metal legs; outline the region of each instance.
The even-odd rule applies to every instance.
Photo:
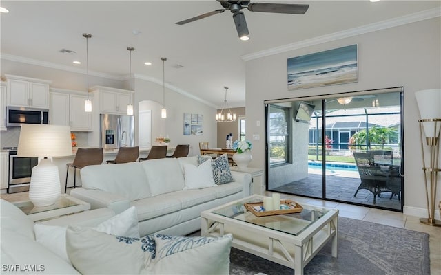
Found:
[[[418,122],[420,123],[422,170],[424,171],[424,187],[428,212],[428,218],[420,218],[420,222],[441,226],[441,221],[435,219],[438,172],[441,171],[438,166],[441,132],[441,89],[417,91],[415,96],[421,115],[421,119]],[[426,159],[426,156],[424,156],[424,144],[429,146],[429,159]]]

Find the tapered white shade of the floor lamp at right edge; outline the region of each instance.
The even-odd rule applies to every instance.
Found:
[[[428,89],[415,93],[420,117],[422,120],[430,118],[441,119],[441,89]],[[422,124],[426,137],[437,137],[440,132],[441,123],[435,129],[435,122],[424,122]]]

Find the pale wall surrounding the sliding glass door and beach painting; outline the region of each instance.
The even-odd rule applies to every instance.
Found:
[[[264,100],[403,86],[404,213],[426,217],[418,128],[420,115],[414,93],[441,87],[440,26],[441,20],[437,17],[247,61],[247,133],[261,137],[260,141],[253,142],[250,166],[265,167]],[[352,44],[358,44],[358,83],[287,90],[287,58]],[[256,126],[257,121],[260,127]],[[439,199],[441,187],[438,188]]]

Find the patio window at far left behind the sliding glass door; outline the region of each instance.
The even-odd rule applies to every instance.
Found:
[[[269,107],[269,164],[283,164],[289,157],[289,109]]]

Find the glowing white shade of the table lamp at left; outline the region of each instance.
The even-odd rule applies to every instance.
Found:
[[[70,127],[23,124],[17,157],[63,157],[72,155]]]

